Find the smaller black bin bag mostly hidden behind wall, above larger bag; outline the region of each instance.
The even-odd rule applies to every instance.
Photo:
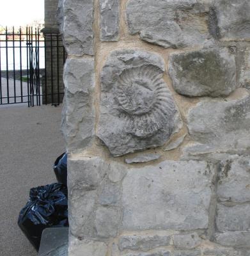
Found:
[[[58,182],[67,184],[67,154],[63,153],[54,163],[54,173]]]

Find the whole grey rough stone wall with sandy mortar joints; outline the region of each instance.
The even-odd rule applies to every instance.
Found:
[[[250,2],[64,0],[70,256],[250,255]]]

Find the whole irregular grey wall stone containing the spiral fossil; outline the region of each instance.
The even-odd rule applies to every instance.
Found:
[[[125,49],[109,56],[101,75],[98,137],[114,156],[163,145],[180,126],[164,70],[164,60],[152,52]]]

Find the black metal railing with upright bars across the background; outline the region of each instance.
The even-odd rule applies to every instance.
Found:
[[[59,105],[63,100],[66,52],[57,31],[0,31],[0,105]]]

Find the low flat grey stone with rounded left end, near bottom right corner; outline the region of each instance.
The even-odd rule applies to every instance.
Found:
[[[250,248],[250,232],[229,231],[215,234],[215,242],[235,248]]]

